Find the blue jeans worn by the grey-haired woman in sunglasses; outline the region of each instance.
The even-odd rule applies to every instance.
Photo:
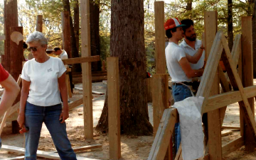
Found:
[[[60,159],[76,160],[75,152],[68,140],[65,122],[60,123],[59,121],[61,112],[61,104],[42,107],[26,102],[25,125],[28,127],[28,132],[25,133],[26,160],[36,160],[36,151],[38,149],[43,122],[46,124],[46,127],[53,138]]]

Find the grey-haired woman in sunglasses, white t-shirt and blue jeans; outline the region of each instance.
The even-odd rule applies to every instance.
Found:
[[[65,67],[61,59],[46,54],[48,45],[43,33],[38,31],[28,36],[26,43],[33,59],[22,69],[22,88],[18,124],[25,127],[25,159],[36,159],[41,127],[46,124],[60,159],[76,160],[68,135],[65,120],[68,118],[68,94],[65,85]],[[59,89],[60,88],[60,89]],[[63,98],[63,108],[60,102]]]

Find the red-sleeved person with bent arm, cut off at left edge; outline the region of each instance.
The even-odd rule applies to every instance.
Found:
[[[16,83],[15,79],[2,67],[0,64],[0,85],[4,88],[4,93],[1,96],[0,101],[0,117],[4,115],[6,110],[10,108],[19,91],[21,90]],[[1,148],[1,139],[0,139]]]

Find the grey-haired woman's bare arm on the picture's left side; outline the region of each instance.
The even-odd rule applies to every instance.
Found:
[[[23,127],[25,122],[25,106],[26,106],[26,101],[28,99],[30,84],[31,84],[31,81],[26,81],[22,79],[20,110],[19,110],[18,119],[17,119],[18,125],[20,127]]]

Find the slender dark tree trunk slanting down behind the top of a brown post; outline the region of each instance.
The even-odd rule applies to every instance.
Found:
[[[63,0],[63,8],[64,8],[64,11],[68,11],[70,13],[70,1],[69,0]],[[72,57],[73,58],[79,57],[76,40],[75,40],[75,32],[74,32],[74,26],[73,26],[71,13],[70,13],[70,40],[71,40]],[[72,72],[82,72],[81,65],[73,64]]]

